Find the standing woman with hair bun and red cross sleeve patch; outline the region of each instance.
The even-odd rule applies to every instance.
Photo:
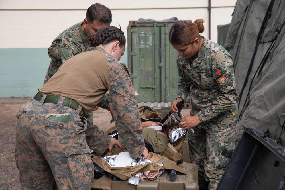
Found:
[[[171,104],[191,97],[191,112],[181,120],[188,130],[190,162],[198,166],[199,189],[216,189],[228,158],[224,148],[235,148],[237,126],[237,89],[231,55],[219,44],[201,36],[204,20],[177,21],[169,32],[169,41],[178,51],[180,75],[178,94]]]

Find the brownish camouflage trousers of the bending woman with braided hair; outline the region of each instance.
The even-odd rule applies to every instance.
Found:
[[[42,100],[43,101],[43,100]],[[94,166],[79,110],[32,99],[17,115],[15,159],[21,189],[90,189]]]

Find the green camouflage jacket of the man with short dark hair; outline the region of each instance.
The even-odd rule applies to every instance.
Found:
[[[64,30],[48,48],[48,56],[51,60],[44,83],[56,73],[64,61],[77,54],[86,52],[88,46],[84,32],[81,30],[82,24],[83,22],[80,22]],[[98,106],[108,110],[110,103],[109,96],[105,96]]]

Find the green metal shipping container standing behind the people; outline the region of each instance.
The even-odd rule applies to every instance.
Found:
[[[170,110],[179,80],[176,59],[168,33],[175,21],[130,21],[128,67],[138,102],[158,102]],[[166,105],[164,104],[166,103]]]

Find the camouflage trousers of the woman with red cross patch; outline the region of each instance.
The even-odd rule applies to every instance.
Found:
[[[225,115],[223,115],[225,117]],[[217,188],[229,159],[221,155],[224,148],[234,150],[236,140],[236,119],[227,126],[217,117],[202,128],[194,127],[194,133],[188,130],[190,163],[198,166],[199,189]],[[221,124],[223,123],[223,124]]]

